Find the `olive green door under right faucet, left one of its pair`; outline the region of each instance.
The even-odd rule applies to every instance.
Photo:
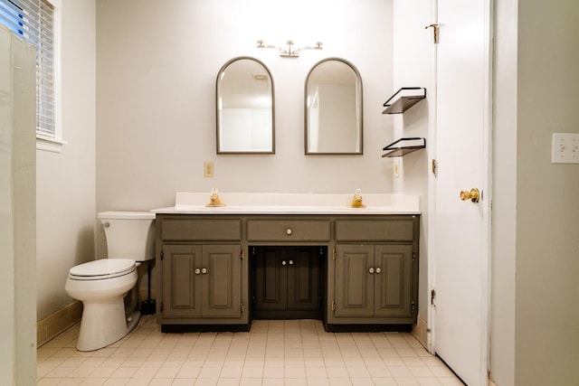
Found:
[[[374,245],[339,244],[336,259],[336,316],[374,315]]]

